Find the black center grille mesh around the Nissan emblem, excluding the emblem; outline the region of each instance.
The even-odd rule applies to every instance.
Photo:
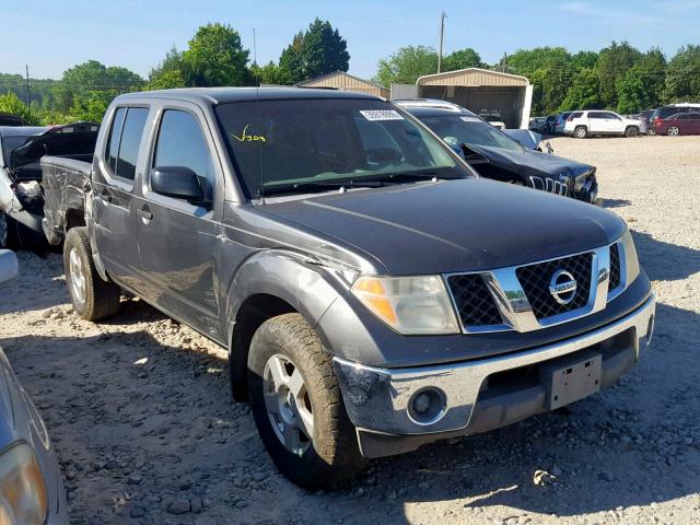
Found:
[[[564,314],[584,307],[588,303],[593,254],[580,254],[545,262],[522,266],[515,270],[523,291],[537,319]],[[576,291],[569,304],[558,303],[549,292],[551,277],[557,270],[565,270],[576,280]]]

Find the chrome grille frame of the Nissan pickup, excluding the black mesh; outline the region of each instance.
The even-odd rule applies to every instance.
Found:
[[[610,279],[610,246],[615,244],[618,245],[620,253],[620,273],[622,278],[620,285],[608,293],[608,283]],[[538,319],[515,270],[527,266],[567,259],[584,254],[593,255],[591,258],[591,285],[586,304],[570,312]],[[453,290],[450,285],[450,278],[465,275],[480,275],[485,280],[487,288],[491,292],[495,306],[503,319],[503,324],[499,325],[465,326],[462,320],[462,316],[457,315],[463,334],[488,334],[510,330],[525,332],[569,323],[604,310],[610,300],[618,296],[627,288],[627,279],[625,277],[627,275],[625,266],[627,258],[626,255],[623,243],[618,240],[615,243],[599,248],[586,249],[575,254],[552,257],[524,265],[510,266],[487,271],[443,273],[443,279],[445,281],[445,288],[450,293],[453,307],[455,308],[455,312],[458,313],[459,305],[457,304]]]

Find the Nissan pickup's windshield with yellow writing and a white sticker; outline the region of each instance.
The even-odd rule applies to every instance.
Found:
[[[217,114],[249,197],[311,185],[471,173],[429,132],[375,100],[222,104]]]

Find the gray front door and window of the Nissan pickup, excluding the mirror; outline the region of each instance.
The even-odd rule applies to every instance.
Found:
[[[164,105],[150,148],[137,210],[143,298],[215,340],[223,340],[217,285],[223,175],[203,114],[195,105]],[[195,172],[203,202],[153,191],[154,168]],[[165,171],[165,170],[163,170]]]

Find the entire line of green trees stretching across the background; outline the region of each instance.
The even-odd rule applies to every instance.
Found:
[[[172,47],[143,79],[127,68],[89,60],[67,69],[60,80],[30,82],[0,73],[0,112],[21,115],[27,124],[100,121],[120,93],[187,86],[292,85],[334,71],[348,71],[348,44],[328,21],[314,20],[296,33],[279,60],[250,63],[250,51],[230,25],[211,23],[197,30],[187,47]],[[658,48],[640,51],[612,42],[599,51],[569,52],[563,47],[518,49],[497,63],[485,63],[471,48],[446,55],[442,71],[478,67],[527,77],[534,85],[533,114],[576,108],[637,113],[673,102],[700,102],[700,46],[681,47],[670,59]],[[412,84],[438,71],[438,52],[406,46],[377,63],[372,79],[390,86]]]

